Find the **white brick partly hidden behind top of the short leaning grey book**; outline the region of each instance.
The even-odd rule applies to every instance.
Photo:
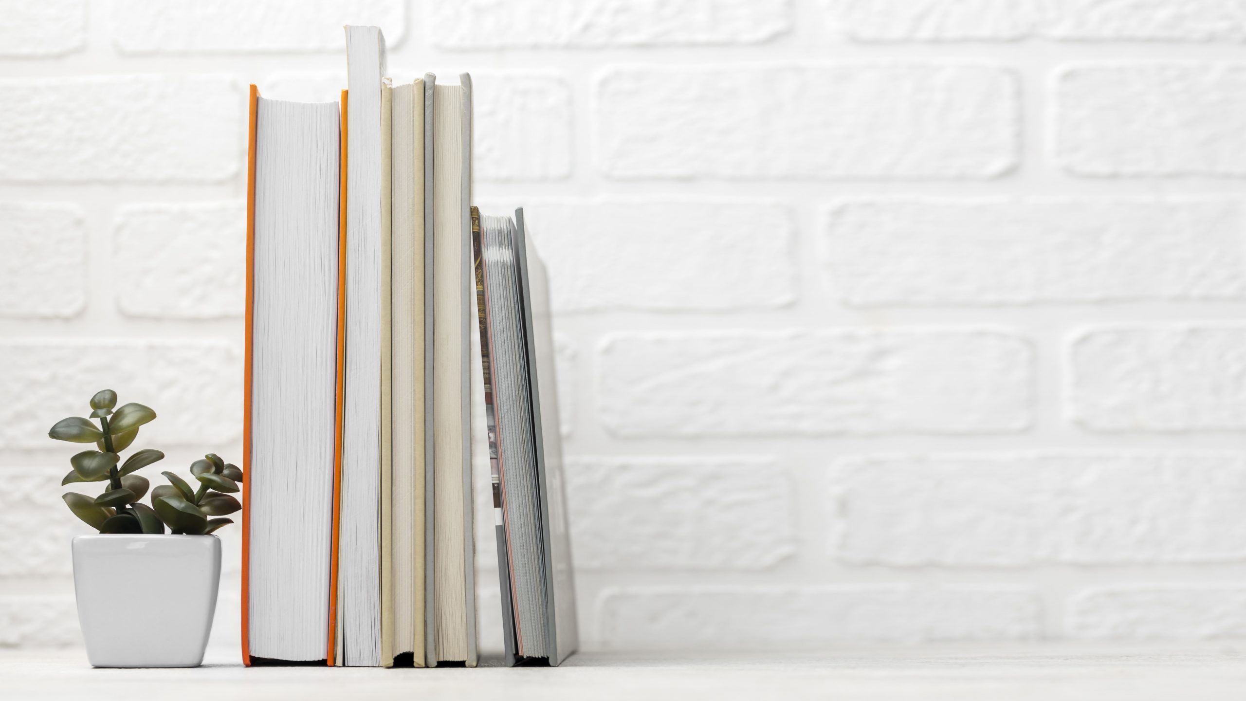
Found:
[[[795,226],[773,202],[533,201],[523,213],[556,313],[770,309],[796,299]]]

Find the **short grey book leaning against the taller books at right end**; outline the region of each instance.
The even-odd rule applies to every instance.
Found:
[[[506,662],[556,666],[578,632],[545,266],[522,210],[483,217],[476,256]]]

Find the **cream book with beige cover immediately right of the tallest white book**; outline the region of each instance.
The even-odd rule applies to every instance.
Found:
[[[391,105],[392,655],[422,667],[425,558],[424,81]]]

